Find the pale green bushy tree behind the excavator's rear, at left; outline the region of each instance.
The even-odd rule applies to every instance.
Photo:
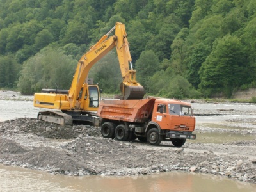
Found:
[[[18,88],[22,94],[41,92],[42,88],[68,89],[72,83],[77,61],[70,56],[45,47],[24,62]]]

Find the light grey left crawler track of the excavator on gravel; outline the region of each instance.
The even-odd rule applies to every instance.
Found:
[[[60,111],[42,111],[37,115],[38,120],[60,125],[73,125],[72,116]]]

